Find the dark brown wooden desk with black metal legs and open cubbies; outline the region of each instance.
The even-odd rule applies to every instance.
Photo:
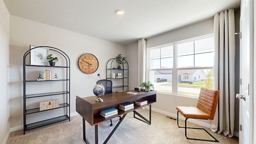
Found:
[[[137,89],[135,90],[128,90],[129,92],[138,92]],[[150,92],[138,92],[138,94],[126,94],[126,92],[116,92],[111,94],[104,94],[102,96],[103,102],[96,102],[96,96],[90,96],[85,98],[80,98],[79,96],[76,96],[76,112],[78,112],[83,117],[83,136],[84,141],[86,144],[89,144],[88,140],[86,139],[86,132],[85,132],[85,120],[91,125],[95,126],[95,144],[98,144],[98,124],[105,122],[107,120],[110,120],[112,118],[122,116],[120,118],[120,121],[118,124],[116,124],[115,128],[112,130],[108,138],[105,140],[104,144],[108,142],[112,134],[115,132],[116,128],[118,128],[119,124],[122,122],[122,120],[125,118],[126,114],[128,112],[134,112],[134,118],[141,120],[143,122],[146,122],[148,124],[151,124],[151,104],[156,102],[156,91],[150,91]],[[135,102],[137,100],[148,100],[148,104],[145,104],[143,106],[139,106],[134,104],[134,108],[131,110],[120,110],[119,104],[122,104],[124,102]],[[142,115],[140,115],[138,112],[136,112],[137,109],[150,106],[150,118],[147,120]],[[108,118],[104,118],[100,115],[101,110],[105,110],[107,108],[116,108],[118,109],[118,114],[114,116],[110,116]],[[140,118],[137,118],[136,115],[138,115]]]

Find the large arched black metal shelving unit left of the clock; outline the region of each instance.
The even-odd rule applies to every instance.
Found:
[[[26,57],[28,56],[28,54],[30,54],[31,50],[34,50],[36,48],[48,48],[49,52],[56,52],[58,54],[60,54],[62,56],[63,59],[66,60],[66,64],[65,66],[39,66],[39,65],[30,65],[30,64],[26,64]],[[59,58],[60,60],[61,58]],[[60,79],[60,80],[26,80],[26,69],[27,68],[31,68],[31,67],[48,67],[49,69],[54,69],[54,68],[63,68],[64,70],[66,70],[66,78],[65,79]],[[48,93],[38,93],[38,94],[26,94],[26,83],[28,82],[34,82],[37,84],[42,84],[44,82],[51,82],[51,81],[64,81],[66,82],[66,87],[64,91],[58,91],[58,92],[48,92]],[[58,108],[53,108],[53,109],[49,109],[49,110],[41,110],[40,108],[32,108],[32,109],[26,109],[26,101],[28,99],[31,98],[38,98],[38,100],[40,99],[40,97],[44,97],[44,96],[48,96],[49,99],[51,96],[54,95],[64,95],[65,101],[63,104],[60,104],[60,106]],[[39,102],[39,101],[38,101]],[[26,116],[28,114],[35,114],[35,113],[40,113],[40,112],[45,112],[48,111],[50,112],[51,110],[54,109],[59,109],[59,108],[65,108],[65,114],[62,116],[58,116],[58,117],[54,117],[54,118],[50,118],[47,120],[42,120],[42,121],[38,121],[38,122],[34,122],[34,123],[27,123],[27,118]],[[56,122],[61,122],[64,120],[69,120],[70,121],[70,59],[68,57],[68,55],[66,55],[62,50],[59,50],[58,48],[53,48],[50,46],[38,46],[35,48],[31,48],[30,50],[26,51],[24,56],[23,56],[23,125],[24,125],[24,129],[23,129],[23,134],[25,134],[25,131],[27,130],[32,130],[34,128],[39,128],[42,126],[46,126],[49,124],[53,124]]]

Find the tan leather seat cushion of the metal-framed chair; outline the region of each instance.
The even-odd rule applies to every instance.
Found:
[[[210,115],[203,112],[202,110],[196,107],[187,107],[187,106],[177,106],[176,109],[185,117],[185,118],[199,118],[199,119],[210,119]]]

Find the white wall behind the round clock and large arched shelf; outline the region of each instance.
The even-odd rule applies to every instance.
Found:
[[[76,96],[94,96],[93,86],[106,78],[106,62],[118,54],[126,56],[123,45],[71,32],[54,26],[34,22],[17,16],[10,16],[10,127],[22,129],[23,84],[22,58],[29,45],[52,46],[64,51],[70,58],[70,113],[76,114]],[[84,53],[98,58],[99,68],[93,74],[85,74],[78,68],[78,58]],[[58,63],[57,63],[58,64]],[[42,85],[44,87],[45,85]],[[104,97],[102,97],[104,99]],[[42,114],[40,118],[45,117]],[[71,118],[72,119],[72,118]]]

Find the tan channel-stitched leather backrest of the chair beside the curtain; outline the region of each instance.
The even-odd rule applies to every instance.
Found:
[[[213,120],[215,110],[219,100],[219,90],[210,88],[201,88],[197,108],[210,115],[210,120]]]

